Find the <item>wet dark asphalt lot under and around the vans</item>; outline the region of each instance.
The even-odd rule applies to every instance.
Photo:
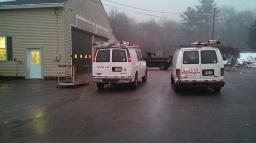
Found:
[[[255,68],[226,69],[220,93],[170,80],[149,68],[137,90],[1,81],[0,143],[256,143]]]

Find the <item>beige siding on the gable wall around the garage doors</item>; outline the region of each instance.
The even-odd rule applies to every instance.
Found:
[[[112,34],[112,29],[110,23],[108,21],[105,10],[101,4],[100,0],[96,0],[96,2],[90,0],[67,0],[64,3],[64,56],[65,56],[65,64],[71,64],[71,37],[70,37],[70,25],[75,25],[77,27],[85,26],[85,30],[95,32],[95,28],[92,28],[91,25],[84,25],[84,23],[80,20],[78,21],[78,25],[76,25],[76,14],[94,22],[103,28],[108,29],[108,35],[103,34],[103,36],[109,37],[110,39],[115,39]],[[100,31],[100,30],[99,30]],[[93,55],[93,54],[92,54]],[[65,71],[68,72],[67,70]],[[68,75],[66,75],[68,76]]]

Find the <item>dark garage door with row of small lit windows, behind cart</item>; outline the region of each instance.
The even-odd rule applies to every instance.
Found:
[[[92,35],[72,28],[72,64],[90,65],[92,73]],[[86,68],[78,67],[76,73],[87,73]]]

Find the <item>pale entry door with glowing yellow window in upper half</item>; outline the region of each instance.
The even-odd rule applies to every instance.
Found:
[[[40,49],[29,49],[29,78],[41,79]]]

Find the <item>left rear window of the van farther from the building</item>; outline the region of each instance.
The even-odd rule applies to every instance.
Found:
[[[184,51],[183,64],[199,64],[198,51]]]

